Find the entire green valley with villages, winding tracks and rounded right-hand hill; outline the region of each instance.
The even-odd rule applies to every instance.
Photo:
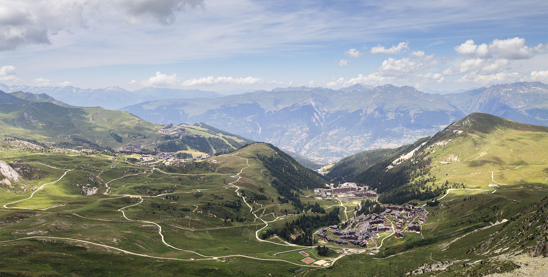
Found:
[[[136,137],[125,151],[63,145],[35,126],[16,127],[28,139],[0,140],[3,275],[484,276],[546,268],[545,126],[472,113],[410,145],[351,155],[325,175],[273,145],[203,123],[151,124],[156,139]]]

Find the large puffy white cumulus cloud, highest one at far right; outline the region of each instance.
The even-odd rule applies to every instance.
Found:
[[[493,55],[496,59],[530,59],[535,54],[544,53],[546,45],[539,44],[535,47],[525,45],[525,39],[520,37],[509,39],[494,39],[493,42],[486,44],[476,43],[469,39],[465,43],[456,46],[455,52],[461,56],[490,58]]]

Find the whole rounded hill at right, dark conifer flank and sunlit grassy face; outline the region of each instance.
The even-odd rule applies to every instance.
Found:
[[[518,148],[516,151],[509,151],[511,142],[516,142],[513,145]],[[415,197],[434,198],[451,184],[454,187],[492,184],[493,178],[485,176],[490,171],[533,165],[543,160],[547,145],[546,126],[472,113],[411,145],[351,155],[335,163],[327,177],[332,182],[367,184],[383,194],[379,200],[402,204]],[[519,180],[515,180],[516,184]],[[529,182],[545,181],[541,177],[534,180]]]

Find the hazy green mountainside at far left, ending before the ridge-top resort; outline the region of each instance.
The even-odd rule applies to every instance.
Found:
[[[117,148],[138,139],[158,138],[159,125],[122,111],[99,107],[62,107],[50,102],[0,103],[2,135],[35,139],[47,144],[77,137]],[[117,136],[121,137],[117,140]]]

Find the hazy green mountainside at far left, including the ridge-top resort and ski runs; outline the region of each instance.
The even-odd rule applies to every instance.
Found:
[[[19,91],[2,92],[0,96],[0,134],[44,145],[70,147],[83,143],[83,147],[94,144],[121,149],[130,143],[140,143],[148,150],[186,151],[196,156],[222,153],[222,149],[230,152],[253,142],[209,125],[181,124],[167,130],[172,134],[165,135],[158,132],[163,125],[146,122],[128,112],[66,105],[46,94]],[[179,132],[178,128],[185,128],[187,133]]]

